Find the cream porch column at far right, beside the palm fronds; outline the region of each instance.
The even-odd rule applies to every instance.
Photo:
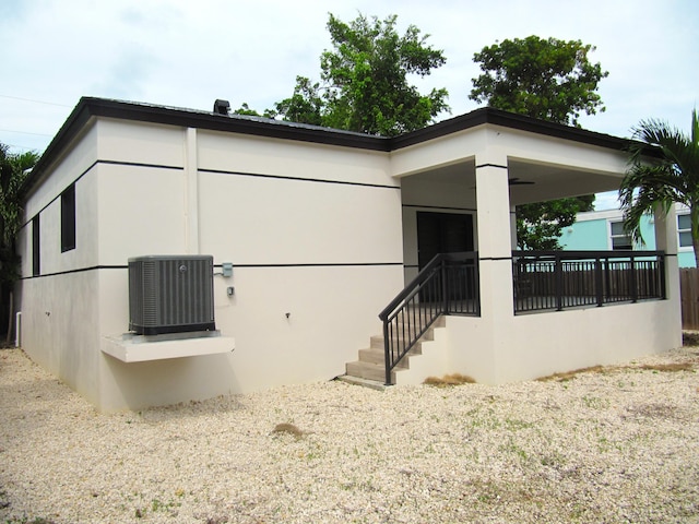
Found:
[[[677,251],[679,239],[677,238],[677,213],[675,206],[671,206],[665,215],[663,210],[655,209],[655,249],[665,251],[665,293],[672,305],[671,325],[677,333],[675,345],[682,345],[682,305],[679,299],[679,262]]]

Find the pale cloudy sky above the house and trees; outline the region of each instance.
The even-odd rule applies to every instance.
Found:
[[[395,14],[399,33],[429,35],[447,63],[414,84],[449,91],[440,120],[479,107],[475,52],[530,35],[596,47],[606,111],[583,116],[585,129],[630,136],[656,118],[688,133],[699,105],[697,0],[0,0],[0,143],[43,152],[81,96],[271,108],[296,75],[319,80],[329,13]]]

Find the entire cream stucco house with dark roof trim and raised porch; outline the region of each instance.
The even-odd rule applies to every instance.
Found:
[[[392,365],[422,331],[390,381],[497,384],[677,347],[674,214],[643,267],[512,251],[517,204],[616,189],[624,145],[490,108],[388,139],[82,98],[25,188],[22,346],[102,410],[384,371],[386,338]],[[218,331],[123,335],[144,255],[213,257]],[[351,366],[382,330],[360,354],[379,361]]]

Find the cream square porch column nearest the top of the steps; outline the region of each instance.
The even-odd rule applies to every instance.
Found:
[[[513,317],[512,234],[507,156],[476,156],[481,317]]]

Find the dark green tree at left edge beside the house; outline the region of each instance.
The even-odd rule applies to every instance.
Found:
[[[0,296],[1,307],[8,314],[8,340],[12,321],[12,287],[20,278],[20,255],[15,250],[15,239],[22,225],[22,203],[20,189],[28,170],[39,158],[35,152],[12,154],[0,144]]]

